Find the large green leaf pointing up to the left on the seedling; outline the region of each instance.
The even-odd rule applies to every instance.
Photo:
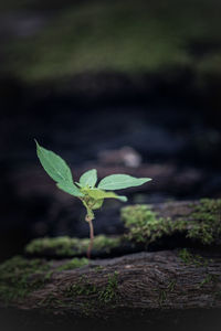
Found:
[[[48,150],[41,147],[38,141],[36,143],[36,154],[39,160],[46,171],[46,173],[55,181],[55,182],[70,182],[73,183],[72,172],[66,162],[53,151]]]

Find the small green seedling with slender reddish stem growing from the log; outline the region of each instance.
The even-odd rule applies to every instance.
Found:
[[[128,174],[110,174],[101,180],[97,188],[97,171],[92,169],[83,173],[78,182],[73,181],[72,172],[66,162],[53,151],[41,147],[36,142],[36,154],[46,173],[56,182],[56,185],[62,191],[78,197],[86,209],[85,221],[90,225],[90,245],[87,257],[91,257],[91,250],[94,241],[94,210],[102,207],[104,199],[118,199],[126,202],[127,197],[117,195],[113,190],[122,190],[131,186],[139,186],[151,179],[135,178]]]

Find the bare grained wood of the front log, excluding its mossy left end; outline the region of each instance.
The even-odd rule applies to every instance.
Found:
[[[97,318],[133,309],[144,314],[150,309],[221,308],[221,254],[198,258],[186,263],[178,250],[165,250],[94,260],[52,273],[41,289],[13,306]]]

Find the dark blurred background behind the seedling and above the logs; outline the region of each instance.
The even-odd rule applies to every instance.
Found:
[[[34,237],[88,235],[80,203],[41,168],[33,139],[74,179],[150,177],[129,203],[221,197],[219,0],[0,2],[0,259]],[[96,234],[120,232],[122,203]]]

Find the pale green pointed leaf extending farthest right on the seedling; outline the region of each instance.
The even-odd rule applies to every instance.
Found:
[[[102,190],[122,190],[139,186],[150,180],[150,178],[135,178],[129,174],[110,174],[99,182],[98,188]]]

